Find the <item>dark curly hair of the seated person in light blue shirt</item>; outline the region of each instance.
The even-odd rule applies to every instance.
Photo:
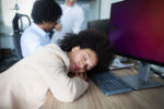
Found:
[[[32,19],[36,24],[57,22],[61,16],[60,5],[55,0],[36,0],[32,9]]]

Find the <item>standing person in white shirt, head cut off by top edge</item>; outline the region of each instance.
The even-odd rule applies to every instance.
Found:
[[[58,40],[62,39],[67,33],[78,34],[84,22],[83,9],[77,4],[77,0],[66,0],[66,4],[62,4],[61,9],[62,15],[55,26],[55,34],[51,38],[54,44],[58,44]]]

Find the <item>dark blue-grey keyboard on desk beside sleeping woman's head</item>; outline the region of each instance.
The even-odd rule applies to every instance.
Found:
[[[128,84],[112,72],[91,74],[89,76],[106,96],[131,90]]]

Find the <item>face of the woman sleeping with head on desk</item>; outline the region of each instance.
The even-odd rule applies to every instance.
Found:
[[[81,49],[79,46],[73,47],[68,52],[68,57],[70,59],[70,72],[72,73],[84,73],[97,64],[95,51],[87,48]]]

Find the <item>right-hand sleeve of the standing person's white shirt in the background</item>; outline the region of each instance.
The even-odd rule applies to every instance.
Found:
[[[75,21],[74,21],[74,24],[73,24],[73,27],[72,27],[72,31],[74,34],[78,34],[81,29],[81,26],[82,26],[82,23],[84,22],[84,12],[83,10],[79,10],[78,12],[79,14],[75,15]]]

